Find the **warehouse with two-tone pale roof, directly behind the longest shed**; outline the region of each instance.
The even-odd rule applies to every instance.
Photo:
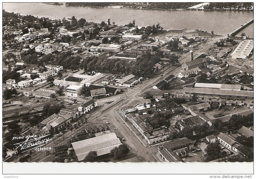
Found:
[[[239,84],[218,84],[218,83],[195,83],[195,88],[210,88],[210,89],[222,89],[222,90],[235,90],[240,91],[242,85]]]

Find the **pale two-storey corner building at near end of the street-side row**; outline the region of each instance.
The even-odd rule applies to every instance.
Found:
[[[152,129],[145,132],[144,139],[147,141],[148,144],[151,145],[151,144],[155,144],[155,143],[167,140],[167,137],[170,133],[171,132],[167,128],[160,127],[160,128]]]

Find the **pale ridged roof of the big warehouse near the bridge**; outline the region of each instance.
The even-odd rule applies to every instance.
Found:
[[[244,54],[247,57],[250,55],[251,51],[253,49],[253,40],[244,40],[239,43],[237,48],[234,50],[234,52],[231,54]]]

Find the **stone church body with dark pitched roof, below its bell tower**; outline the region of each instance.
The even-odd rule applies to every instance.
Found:
[[[187,61],[182,63],[182,70],[186,71],[186,70],[190,70],[193,68],[205,68],[206,65],[208,65],[209,63],[207,61],[209,61],[210,58],[206,57],[206,58],[199,58],[199,59],[195,59],[192,61]]]

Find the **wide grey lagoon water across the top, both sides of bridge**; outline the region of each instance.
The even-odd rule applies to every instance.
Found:
[[[159,22],[164,30],[170,29],[199,29],[214,34],[229,34],[246,21],[253,18],[252,11],[190,11],[190,10],[140,10],[117,8],[91,8],[53,6],[43,3],[3,3],[7,12],[20,13],[20,15],[33,15],[35,17],[49,17],[54,19],[85,18],[87,21],[107,22],[111,19],[115,24],[124,25],[135,19],[140,27]],[[253,37],[253,24],[241,33]],[[238,35],[241,34],[240,32]]]

